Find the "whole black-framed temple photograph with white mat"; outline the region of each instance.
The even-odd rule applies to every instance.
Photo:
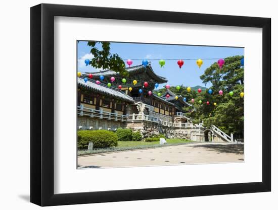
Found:
[[[31,202],[271,189],[270,19],[31,8]]]

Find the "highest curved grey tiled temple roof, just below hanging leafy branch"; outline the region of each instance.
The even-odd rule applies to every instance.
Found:
[[[157,83],[166,83],[168,80],[164,77],[161,77],[153,71],[153,68],[151,66],[151,62],[148,63],[147,67],[144,65],[135,65],[132,67],[127,67],[126,71],[129,74],[140,74],[140,73],[146,73],[150,78],[154,79]],[[111,71],[109,69],[98,72],[98,73],[86,73],[83,74],[82,76],[87,76],[88,74],[92,74],[94,77],[99,78],[101,75],[103,76],[117,76],[119,73]]]

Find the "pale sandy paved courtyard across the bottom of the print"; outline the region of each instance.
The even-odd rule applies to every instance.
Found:
[[[197,143],[78,157],[78,168],[243,162],[243,144]]]

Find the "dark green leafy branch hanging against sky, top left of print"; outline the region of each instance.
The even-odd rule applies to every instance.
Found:
[[[96,47],[96,44],[102,45],[102,50]],[[128,76],[125,64],[122,58],[117,54],[110,53],[110,42],[89,41],[88,46],[92,47],[90,52],[94,55],[89,64],[95,68],[110,69],[119,73],[121,76]]]

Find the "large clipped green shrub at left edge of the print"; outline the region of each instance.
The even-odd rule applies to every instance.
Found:
[[[79,150],[88,149],[89,142],[94,148],[108,148],[118,146],[118,136],[109,130],[78,130],[77,147]]]

